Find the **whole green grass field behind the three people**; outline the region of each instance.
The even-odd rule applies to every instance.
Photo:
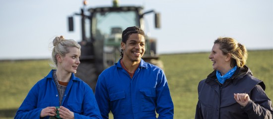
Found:
[[[194,119],[198,101],[197,86],[212,72],[209,53],[161,55],[174,102],[174,119]],[[50,60],[0,61],[0,118],[16,110],[30,88],[50,71]],[[254,76],[266,84],[273,99],[273,50],[249,51],[247,65]],[[12,114],[14,115],[14,114]]]

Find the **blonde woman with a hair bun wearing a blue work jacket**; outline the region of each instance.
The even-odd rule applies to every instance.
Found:
[[[31,88],[14,119],[101,119],[92,89],[74,75],[80,45],[61,36],[53,40],[53,46],[57,69]]]

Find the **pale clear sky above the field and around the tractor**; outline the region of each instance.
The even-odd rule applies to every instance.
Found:
[[[87,0],[89,7],[112,0]],[[232,37],[248,50],[273,49],[273,0],[119,0],[161,14],[145,18],[146,33],[157,39],[158,54],[210,52],[218,37]],[[83,0],[0,0],[0,60],[51,58],[56,36],[80,41],[80,18],[68,31],[68,16]]]

